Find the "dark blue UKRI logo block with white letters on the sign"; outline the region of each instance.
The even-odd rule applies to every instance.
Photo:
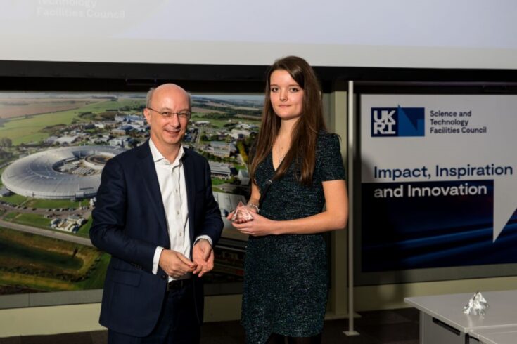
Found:
[[[425,107],[372,107],[372,136],[423,136]]]

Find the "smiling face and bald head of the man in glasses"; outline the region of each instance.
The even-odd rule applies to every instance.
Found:
[[[189,96],[175,85],[162,85],[155,89],[149,107],[143,110],[143,114],[151,127],[151,139],[158,150],[179,147],[189,119],[180,118],[177,114],[167,118],[160,112],[190,111]]]

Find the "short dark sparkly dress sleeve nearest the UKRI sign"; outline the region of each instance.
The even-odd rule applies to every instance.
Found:
[[[321,181],[345,179],[345,167],[343,157],[341,157],[338,135],[330,133],[318,135],[316,159]]]

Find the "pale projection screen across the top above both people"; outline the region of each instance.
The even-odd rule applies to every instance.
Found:
[[[517,2],[18,0],[0,60],[517,68]]]

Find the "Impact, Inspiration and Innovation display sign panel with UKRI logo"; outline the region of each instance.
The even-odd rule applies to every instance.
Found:
[[[361,271],[516,263],[517,96],[361,96]]]

